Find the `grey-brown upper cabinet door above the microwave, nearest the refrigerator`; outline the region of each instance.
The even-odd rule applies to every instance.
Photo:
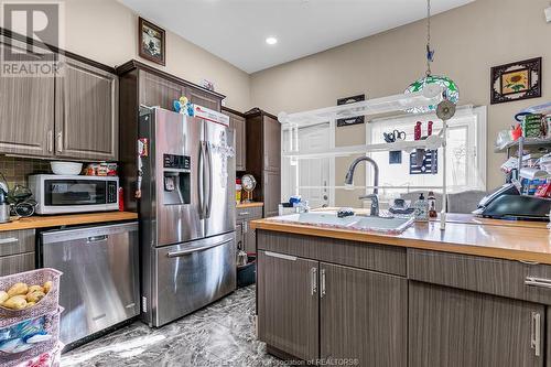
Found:
[[[62,56],[55,78],[55,155],[116,161],[119,132],[119,80],[109,73]]]

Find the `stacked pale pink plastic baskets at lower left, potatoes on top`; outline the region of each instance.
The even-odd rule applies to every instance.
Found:
[[[55,366],[63,345],[60,343],[61,271],[36,269],[0,278],[0,290],[23,282],[43,284],[52,282],[52,289],[35,305],[23,310],[0,306],[0,366],[25,365],[37,357],[44,361],[40,366]],[[32,346],[31,346],[32,344]]]

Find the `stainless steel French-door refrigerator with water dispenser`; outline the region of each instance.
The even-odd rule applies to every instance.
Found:
[[[161,326],[236,288],[234,131],[141,108],[139,139],[142,317]]]

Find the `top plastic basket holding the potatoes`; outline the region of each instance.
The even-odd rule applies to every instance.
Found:
[[[23,310],[10,310],[0,306],[0,327],[12,325],[22,320],[37,317],[57,311],[60,306],[60,277],[63,273],[55,269],[43,268],[7,277],[0,277],[0,290],[8,291],[15,283],[44,284],[52,281],[52,289],[35,305]]]

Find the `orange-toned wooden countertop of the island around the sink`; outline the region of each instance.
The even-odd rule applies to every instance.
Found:
[[[440,229],[440,222],[415,223],[401,235],[298,225],[270,219],[252,220],[251,227],[551,265],[551,231],[545,228],[544,223],[507,222],[452,214],[449,215],[445,230]]]

